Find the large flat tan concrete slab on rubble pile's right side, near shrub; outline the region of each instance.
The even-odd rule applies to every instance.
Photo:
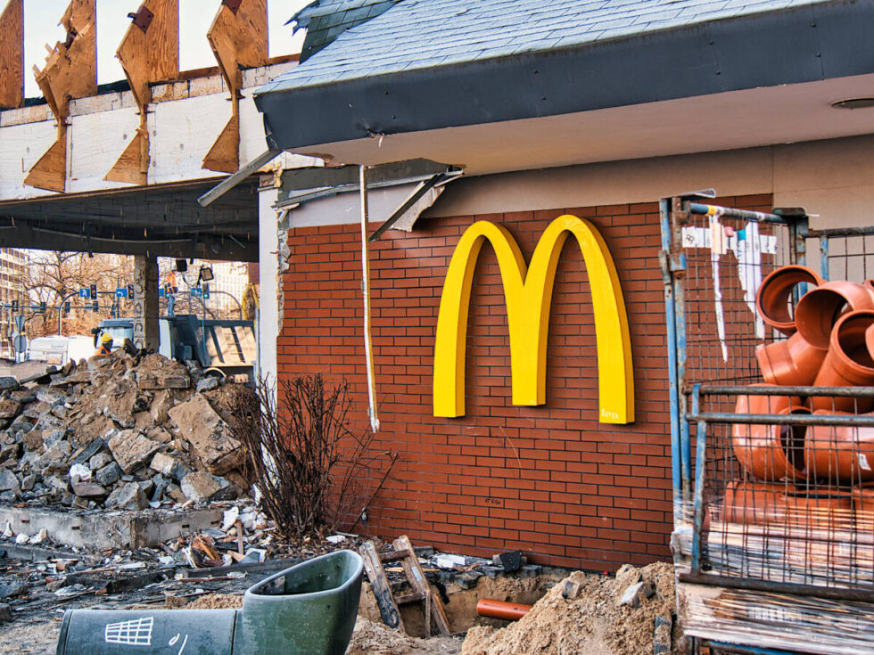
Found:
[[[169,415],[210,473],[222,475],[243,463],[242,444],[206,397],[194,394],[186,403],[169,410]]]

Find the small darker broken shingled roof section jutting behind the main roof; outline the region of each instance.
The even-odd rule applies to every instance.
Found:
[[[301,63],[333,43],[347,29],[375,18],[399,2],[400,0],[316,0],[308,4],[288,21],[295,23],[295,32],[298,29],[307,30],[307,37],[301,48]]]

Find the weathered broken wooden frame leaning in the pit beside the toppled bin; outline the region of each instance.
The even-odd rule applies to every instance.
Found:
[[[364,569],[367,571],[367,577],[373,587],[383,623],[389,627],[400,628],[406,633],[398,608],[414,602],[423,602],[425,635],[431,635],[432,622],[439,635],[449,635],[449,620],[446,618],[446,610],[443,609],[440,594],[434,594],[431,585],[428,584],[425,571],[419,565],[416,551],[413,550],[413,544],[409,543],[408,536],[399,536],[392,543],[392,548],[393,550],[388,553],[377,553],[376,547],[371,541],[361,546]],[[392,586],[389,585],[388,578],[385,577],[385,569],[383,569],[383,563],[390,561],[400,562],[404,574],[407,576],[407,581],[413,589],[412,593],[397,598],[392,595]]]

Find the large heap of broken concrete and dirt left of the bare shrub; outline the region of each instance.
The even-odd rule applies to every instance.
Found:
[[[143,510],[247,487],[233,385],[124,349],[0,378],[0,503]]]

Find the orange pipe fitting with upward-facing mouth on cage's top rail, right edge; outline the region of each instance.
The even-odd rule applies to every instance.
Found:
[[[831,331],[829,353],[813,384],[820,387],[868,386],[874,383],[874,359],[868,347],[868,331],[874,325],[874,310],[862,309],[842,315]],[[874,409],[874,398],[812,396],[811,409],[864,413]]]

